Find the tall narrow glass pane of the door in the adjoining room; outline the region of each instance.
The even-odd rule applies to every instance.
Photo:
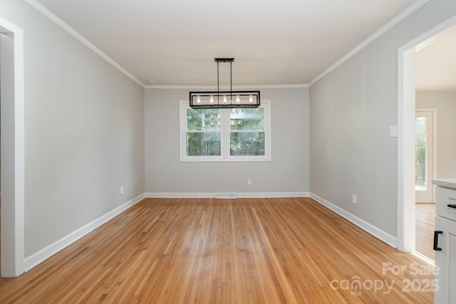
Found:
[[[426,117],[415,120],[415,190],[426,189]]]

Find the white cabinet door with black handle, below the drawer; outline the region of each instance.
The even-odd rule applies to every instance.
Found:
[[[435,216],[438,235],[435,251],[435,303],[456,303],[456,221]]]

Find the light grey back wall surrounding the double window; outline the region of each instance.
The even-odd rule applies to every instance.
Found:
[[[309,89],[261,89],[261,99],[271,100],[271,162],[180,162],[179,102],[188,90],[147,89],[145,192],[309,192]]]

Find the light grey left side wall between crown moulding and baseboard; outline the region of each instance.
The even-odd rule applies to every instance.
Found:
[[[0,16],[24,29],[27,258],[144,193],[144,90],[24,1]]]

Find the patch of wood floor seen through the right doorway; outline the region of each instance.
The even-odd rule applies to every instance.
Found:
[[[434,261],[435,204],[415,204],[415,212],[415,250]]]

